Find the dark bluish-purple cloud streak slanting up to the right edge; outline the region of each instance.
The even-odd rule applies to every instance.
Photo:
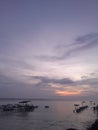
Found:
[[[68,50],[66,50],[65,46],[65,52],[59,59],[63,60],[70,58],[77,53],[82,53],[84,50],[96,47],[96,45],[98,46],[98,33],[90,33],[84,36],[79,36],[75,39],[74,43],[70,44],[69,47],[67,47]]]

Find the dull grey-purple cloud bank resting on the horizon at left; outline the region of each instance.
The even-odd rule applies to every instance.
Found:
[[[48,95],[53,96],[53,91],[45,88],[45,84],[24,83],[3,74],[0,75],[0,98],[43,98],[48,97]]]

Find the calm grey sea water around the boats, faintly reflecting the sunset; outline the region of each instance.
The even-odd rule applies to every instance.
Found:
[[[18,101],[0,100],[0,104]],[[97,115],[91,108],[73,113],[74,104],[80,101],[32,101],[39,107],[33,112],[0,112],[0,130],[86,130]],[[86,102],[90,106],[89,102]],[[44,108],[49,105],[48,109]]]

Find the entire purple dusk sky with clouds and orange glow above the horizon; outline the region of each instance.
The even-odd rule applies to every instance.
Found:
[[[0,0],[0,98],[98,99],[98,0]]]

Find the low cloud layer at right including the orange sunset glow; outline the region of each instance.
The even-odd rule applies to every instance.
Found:
[[[84,76],[82,76],[84,77]],[[47,92],[52,91],[56,95],[57,92],[65,94],[80,94],[80,95],[90,95],[94,91],[98,91],[98,77],[96,78],[82,78],[81,80],[71,80],[70,78],[65,79],[55,79],[43,76],[31,76],[28,77],[29,80],[40,79],[40,82],[35,84],[36,87],[41,90],[47,90]],[[97,93],[98,94],[98,93]]]

